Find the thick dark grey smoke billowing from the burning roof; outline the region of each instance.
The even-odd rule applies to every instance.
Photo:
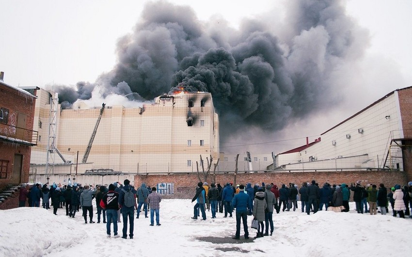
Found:
[[[278,24],[245,19],[234,30],[222,20],[201,22],[188,6],[149,2],[119,39],[110,72],[56,91],[70,107],[97,85],[102,97],[137,93],[138,101],[183,86],[212,94],[222,141],[242,130],[277,131],[339,102],[337,71],[367,47],[367,32],[339,0],[287,1],[285,17]]]

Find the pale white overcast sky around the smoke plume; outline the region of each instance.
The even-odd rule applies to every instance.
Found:
[[[0,0],[0,71],[5,72],[4,82],[40,87],[95,82],[116,63],[116,42],[132,31],[145,2]],[[200,20],[222,16],[234,28],[244,17],[270,12],[284,15],[284,0],[239,0],[236,4],[231,0],[171,2],[190,5]],[[318,134],[387,93],[412,85],[412,1],[344,2],[349,16],[371,35],[371,45],[359,63],[358,73],[348,79],[350,86],[340,92],[347,98],[348,107],[313,117],[312,124],[298,123],[296,127],[300,129],[296,133],[291,133],[294,129],[289,127],[286,138],[312,135],[317,138]],[[322,124],[320,128],[319,124]],[[285,149],[305,141],[289,143]]]

